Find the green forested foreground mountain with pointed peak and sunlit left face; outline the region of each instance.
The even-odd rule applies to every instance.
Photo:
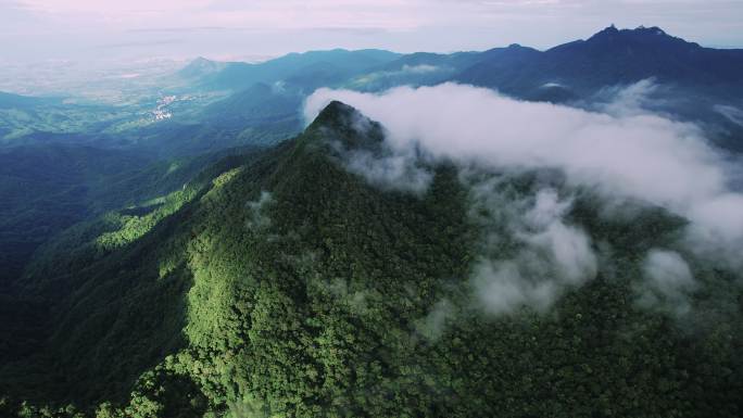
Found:
[[[683,219],[643,208],[609,221],[583,191],[568,217],[610,244],[597,277],[544,312],[489,315],[468,280],[483,226],[456,167],[430,167],[421,194],[369,185],[338,154],[338,143],[381,152],[380,128],[360,131],[357,117],[333,103],[274,150],[50,244],[24,278],[49,303],[45,337],[0,365],[0,411],[741,415],[738,274],[696,261],[691,316],[635,303],[642,256],[672,248]],[[529,195],[539,181],[502,187]]]

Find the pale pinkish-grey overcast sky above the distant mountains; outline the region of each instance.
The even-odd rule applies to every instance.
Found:
[[[743,46],[742,0],[0,0],[0,61],[545,49],[612,23]]]

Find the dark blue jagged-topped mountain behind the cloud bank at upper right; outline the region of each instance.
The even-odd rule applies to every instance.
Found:
[[[743,50],[704,48],[657,27],[612,26],[546,51],[493,51],[453,79],[590,109],[619,88],[648,80],[643,92],[648,110],[697,123],[721,147],[743,151],[743,124],[735,116],[743,106]]]

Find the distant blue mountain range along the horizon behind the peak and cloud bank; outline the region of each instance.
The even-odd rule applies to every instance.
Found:
[[[545,51],[519,45],[451,54],[332,50],[289,54],[260,64],[199,59],[184,71],[193,74],[193,67],[210,71],[189,78],[190,86],[235,92],[235,98],[209,111],[221,109],[219,117],[232,123],[256,119],[254,106],[232,106],[236,100],[250,96],[256,103],[284,102],[287,107],[279,113],[291,113],[318,87],[381,91],[456,81],[524,100],[591,107],[610,100],[608,93],[618,88],[648,80],[660,87],[660,91],[646,92],[650,110],[704,125],[723,148],[743,151],[743,125],[723,111],[735,113],[734,109],[743,106],[743,50],[704,48],[658,27],[610,26],[587,40]],[[270,88],[253,87],[257,84]]]

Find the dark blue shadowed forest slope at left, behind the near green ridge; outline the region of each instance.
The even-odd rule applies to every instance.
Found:
[[[20,276],[32,253],[61,230],[180,189],[215,161],[252,150],[167,161],[71,144],[0,150],[0,287]]]

